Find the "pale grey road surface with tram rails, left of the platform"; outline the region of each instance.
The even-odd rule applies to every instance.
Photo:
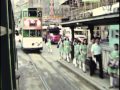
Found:
[[[56,45],[48,53],[43,51],[23,51],[17,42],[20,90],[96,90],[89,83],[80,80],[74,73],[61,66]]]

